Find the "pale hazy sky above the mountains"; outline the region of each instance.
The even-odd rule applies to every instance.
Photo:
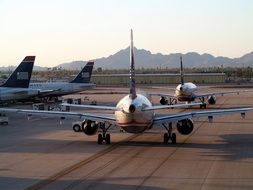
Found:
[[[253,51],[252,0],[0,0],[0,66],[152,53],[240,57]]]

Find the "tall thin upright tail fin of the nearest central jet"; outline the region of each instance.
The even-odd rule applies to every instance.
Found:
[[[133,30],[131,29],[131,45],[130,45],[130,79],[129,79],[129,87],[130,87],[130,97],[135,99],[136,89],[135,89],[135,66],[134,66],[134,43],[133,43]]]

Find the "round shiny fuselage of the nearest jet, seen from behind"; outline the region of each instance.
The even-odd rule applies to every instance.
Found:
[[[122,98],[116,106],[116,122],[119,127],[128,133],[142,133],[152,127],[154,111],[143,111],[143,108],[152,107],[147,97],[137,94],[135,99],[129,95]]]

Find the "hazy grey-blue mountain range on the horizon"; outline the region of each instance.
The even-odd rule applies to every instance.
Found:
[[[199,54],[189,52],[186,54],[173,53],[164,55],[161,53],[152,54],[150,51],[135,48],[135,67],[136,68],[178,68],[180,56],[183,57],[184,67],[247,67],[253,66],[253,52],[239,58],[214,57],[211,54]],[[129,47],[118,51],[108,57],[95,59],[95,67],[103,69],[128,69],[129,68]],[[86,61],[73,61],[58,65],[64,69],[80,69]]]

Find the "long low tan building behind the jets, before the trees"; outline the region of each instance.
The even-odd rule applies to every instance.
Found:
[[[193,83],[225,83],[225,73],[193,73],[184,74],[185,82]],[[136,74],[137,84],[178,84],[180,74]],[[129,74],[93,74],[91,81],[97,85],[127,85]]]

